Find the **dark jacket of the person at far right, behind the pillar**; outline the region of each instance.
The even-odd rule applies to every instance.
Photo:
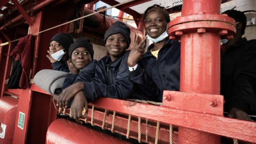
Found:
[[[256,114],[256,40],[242,38],[222,54],[221,94],[224,111],[236,107]]]

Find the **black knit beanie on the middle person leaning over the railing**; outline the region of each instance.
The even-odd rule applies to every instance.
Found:
[[[122,23],[120,21],[116,21],[114,23],[114,25],[111,25],[108,28],[108,30],[105,32],[104,44],[106,44],[106,41],[109,36],[111,36],[112,34],[116,34],[116,33],[121,33],[124,36],[124,38],[126,40],[126,44],[127,44],[126,48],[128,48],[131,43],[131,38],[130,38],[131,30],[130,30],[129,26],[125,25],[124,23]]]

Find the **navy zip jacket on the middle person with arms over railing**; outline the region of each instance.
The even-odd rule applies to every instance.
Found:
[[[98,61],[95,68],[93,81],[84,82],[84,95],[93,101],[98,97],[110,97],[117,99],[146,97],[136,93],[136,84],[130,80],[127,57],[130,51],[112,62],[110,56],[105,56]]]

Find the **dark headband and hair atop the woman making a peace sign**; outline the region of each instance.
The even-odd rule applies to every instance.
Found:
[[[147,8],[147,10],[143,14],[143,20],[145,20],[147,15],[152,11],[158,11],[158,12],[162,13],[164,15],[164,17],[166,18],[167,23],[169,23],[171,21],[168,11],[164,7],[157,5],[157,4],[154,4]]]

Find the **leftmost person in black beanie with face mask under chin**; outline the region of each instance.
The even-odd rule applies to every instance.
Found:
[[[50,47],[46,57],[52,63],[53,70],[69,72],[67,61],[68,48],[74,42],[72,35],[69,33],[57,33],[50,40]]]

